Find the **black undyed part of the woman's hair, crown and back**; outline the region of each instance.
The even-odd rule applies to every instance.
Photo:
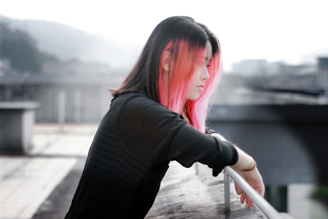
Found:
[[[160,103],[158,77],[160,59],[170,42],[184,39],[195,47],[206,47],[207,40],[212,45],[212,54],[220,53],[217,37],[206,25],[197,23],[194,18],[173,16],[161,21],[149,36],[134,67],[120,86],[110,90],[114,98],[127,91],[139,91]]]

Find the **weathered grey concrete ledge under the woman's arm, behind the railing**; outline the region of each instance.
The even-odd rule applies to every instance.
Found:
[[[154,205],[145,218],[223,219],[223,173],[213,177],[212,169],[203,164],[198,165],[199,175],[195,175],[195,166],[185,168],[177,162],[171,162]],[[240,204],[234,183],[232,180],[230,183],[231,218],[266,218],[257,207],[248,208],[246,204]]]

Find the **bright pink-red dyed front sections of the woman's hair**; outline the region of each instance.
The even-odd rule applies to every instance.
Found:
[[[208,67],[210,78],[204,82],[203,91],[196,100],[189,100],[187,97],[196,68],[204,64],[206,47],[193,45],[180,39],[175,42],[171,41],[164,49],[165,51],[171,51],[171,56],[174,58],[171,58],[168,73],[164,73],[161,62],[159,65],[160,103],[176,113],[185,115],[189,124],[205,132],[206,116],[212,105],[211,97],[216,93],[222,72],[220,49],[219,53],[212,53],[212,60]]]

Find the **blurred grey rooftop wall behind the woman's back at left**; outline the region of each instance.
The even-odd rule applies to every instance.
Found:
[[[0,101],[37,101],[36,122],[100,122],[111,103],[115,75],[0,75]]]

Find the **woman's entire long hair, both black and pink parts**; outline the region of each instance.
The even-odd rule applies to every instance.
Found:
[[[204,64],[207,40],[212,45],[210,79],[204,82],[199,98],[189,100],[191,78],[196,68]],[[171,53],[168,72],[161,63],[166,51]],[[130,74],[118,88],[111,90],[112,95],[116,98],[126,91],[139,91],[183,114],[191,125],[204,132],[210,98],[221,77],[221,56],[220,44],[207,26],[191,17],[169,17],[155,27]]]

